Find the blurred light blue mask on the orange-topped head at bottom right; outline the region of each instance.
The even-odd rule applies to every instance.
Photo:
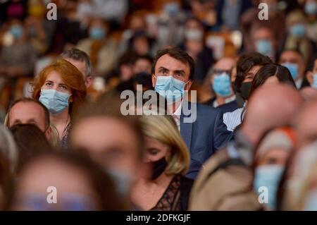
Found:
[[[280,165],[259,166],[254,174],[254,191],[259,195],[261,194],[261,192],[259,193],[260,187],[268,188],[268,203],[266,205],[272,210],[275,210],[277,206],[276,195],[284,168]]]

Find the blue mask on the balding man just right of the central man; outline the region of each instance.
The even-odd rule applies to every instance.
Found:
[[[232,95],[230,76],[228,73],[221,73],[213,77],[213,91],[221,97]]]

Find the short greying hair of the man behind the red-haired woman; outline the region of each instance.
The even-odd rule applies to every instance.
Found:
[[[86,54],[85,51],[81,51],[80,49],[70,49],[68,51],[64,51],[61,54],[61,58],[63,59],[73,59],[75,61],[85,62],[86,70],[85,70],[85,77],[92,75],[92,61],[90,61],[89,56]]]

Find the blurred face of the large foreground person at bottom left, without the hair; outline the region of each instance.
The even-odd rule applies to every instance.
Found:
[[[50,186],[54,186],[57,190],[55,204],[49,204],[46,200],[49,195],[47,188]],[[50,193],[52,193],[51,190]],[[75,195],[75,198],[70,194]],[[48,157],[27,166],[19,177],[12,208],[13,210],[37,210],[29,201],[40,201],[44,207],[42,210],[70,210],[67,204],[72,205],[70,202],[78,201],[84,201],[85,207],[89,210],[98,209],[97,197],[89,186],[89,180],[84,171]]]

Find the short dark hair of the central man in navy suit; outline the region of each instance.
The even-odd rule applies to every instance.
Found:
[[[178,47],[173,47],[170,49],[163,49],[159,50],[156,53],[156,56],[154,58],[154,63],[151,68],[151,73],[155,74],[155,66],[157,61],[161,58],[161,56],[168,54],[170,57],[177,59],[181,61],[182,63],[186,63],[187,66],[189,66],[189,80],[194,80],[194,73],[195,73],[195,63],[194,59],[192,59],[189,54],[187,54],[186,51],[183,51],[182,49]]]

